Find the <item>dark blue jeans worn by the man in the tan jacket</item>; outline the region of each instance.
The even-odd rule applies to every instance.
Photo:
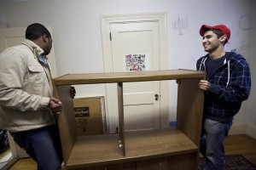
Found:
[[[62,150],[57,125],[11,133],[16,144],[38,163],[38,170],[61,169]]]

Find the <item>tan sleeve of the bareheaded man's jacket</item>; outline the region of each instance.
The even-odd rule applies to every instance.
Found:
[[[26,59],[18,51],[0,54],[0,105],[18,111],[47,109],[49,98],[22,90],[26,69]]]

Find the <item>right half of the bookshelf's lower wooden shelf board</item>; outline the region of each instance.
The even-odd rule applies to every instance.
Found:
[[[166,128],[126,133],[126,157],[145,160],[197,152],[198,147],[181,131]]]

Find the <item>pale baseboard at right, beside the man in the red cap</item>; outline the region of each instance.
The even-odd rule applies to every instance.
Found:
[[[256,126],[248,123],[236,123],[230,128],[229,135],[234,134],[247,134],[248,136],[256,139]]]

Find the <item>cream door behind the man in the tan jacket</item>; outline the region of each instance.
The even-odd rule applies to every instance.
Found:
[[[47,27],[47,29],[51,33],[50,27]],[[20,43],[25,39],[25,32],[26,27],[0,28],[0,53],[3,52],[5,48],[20,45]],[[57,77],[54,47],[51,49],[48,58],[52,77]],[[20,149],[20,147],[17,144],[15,144],[14,139],[10,135],[9,145],[13,157],[28,157],[26,152]]]

